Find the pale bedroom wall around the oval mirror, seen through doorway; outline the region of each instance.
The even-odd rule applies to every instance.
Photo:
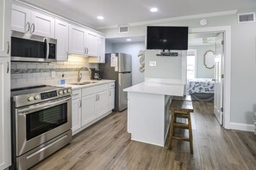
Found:
[[[203,55],[209,50],[215,52],[215,46],[189,46],[189,49],[197,50],[197,78],[214,78],[214,69],[205,67]]]

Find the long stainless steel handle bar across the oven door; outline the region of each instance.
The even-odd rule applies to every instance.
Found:
[[[30,114],[30,113],[41,111],[41,110],[44,110],[44,109],[47,109],[47,108],[50,108],[53,106],[61,105],[71,99],[72,99],[72,97],[67,97],[67,98],[61,99],[61,100],[47,101],[46,103],[43,103],[43,104],[36,104],[34,106],[28,106],[28,108],[18,109],[18,113],[19,114]]]

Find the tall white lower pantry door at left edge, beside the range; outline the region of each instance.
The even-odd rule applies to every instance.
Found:
[[[0,58],[0,169],[9,167],[11,163],[9,64],[9,58]]]

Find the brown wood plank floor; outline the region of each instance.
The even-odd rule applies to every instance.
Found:
[[[130,140],[127,112],[111,113],[73,137],[32,169],[256,169],[256,136],[224,130],[212,103],[194,102],[194,155],[189,143],[174,141],[172,150]],[[176,131],[188,135],[186,131]]]

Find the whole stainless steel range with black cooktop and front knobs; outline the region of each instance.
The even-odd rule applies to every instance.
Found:
[[[28,169],[72,140],[72,88],[11,90],[13,167]]]

